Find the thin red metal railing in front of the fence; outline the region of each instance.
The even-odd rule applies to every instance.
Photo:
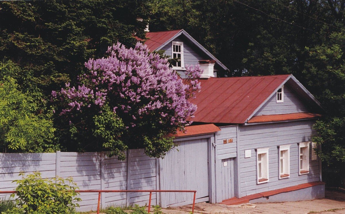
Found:
[[[192,213],[194,213],[195,195],[196,195],[196,190],[76,190],[76,192],[98,192],[97,214],[99,214],[99,204],[101,201],[102,192],[149,192],[150,197],[149,197],[148,213],[150,213],[150,208],[151,208],[152,192],[194,192]],[[1,194],[2,193],[16,193],[16,191],[0,191],[0,193]]]

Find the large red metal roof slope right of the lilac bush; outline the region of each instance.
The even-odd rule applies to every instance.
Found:
[[[289,75],[200,79],[198,106],[191,120],[243,124]]]

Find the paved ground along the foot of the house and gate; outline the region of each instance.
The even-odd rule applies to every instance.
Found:
[[[162,209],[163,213],[189,213],[191,205]],[[279,202],[279,203],[256,203],[242,205],[220,205],[198,203],[195,205],[195,213],[322,213],[322,214],[345,214],[345,194],[339,192],[326,192],[324,199],[310,201]]]

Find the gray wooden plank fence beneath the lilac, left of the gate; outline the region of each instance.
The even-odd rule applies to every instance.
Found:
[[[129,159],[119,161],[97,152],[0,153],[0,189],[14,190],[17,185],[12,181],[21,179],[19,172],[33,171],[40,171],[42,178],[71,176],[80,190],[156,189],[156,159],[147,157],[143,149],[130,150],[129,154]],[[80,193],[79,197],[82,201],[77,211],[97,210],[98,193]],[[149,193],[102,193],[101,204],[145,205],[148,200]],[[157,204],[155,193],[151,204]]]

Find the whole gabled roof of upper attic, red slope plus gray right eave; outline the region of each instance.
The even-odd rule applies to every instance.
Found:
[[[191,43],[197,46],[202,52],[204,52],[210,59],[215,60],[216,64],[222,67],[224,70],[229,70],[223,63],[221,63],[217,58],[208,52],[205,47],[198,43],[193,37],[191,37],[185,30],[171,30],[171,31],[159,31],[159,32],[147,32],[147,40],[139,39],[138,41],[145,41],[144,44],[147,45],[149,51],[159,51],[162,47],[166,46],[169,42],[174,40],[180,35],[184,35]]]

